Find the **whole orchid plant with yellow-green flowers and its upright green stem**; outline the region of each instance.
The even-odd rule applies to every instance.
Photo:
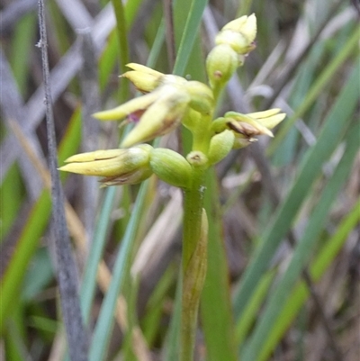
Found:
[[[273,137],[270,130],[285,117],[280,109],[271,109],[248,114],[228,112],[214,119],[220,92],[244,64],[247,54],[255,49],[256,33],[255,14],[242,16],[220,30],[206,60],[209,85],[128,64],[130,71],[122,77],[128,78],[144,95],[94,114],[102,121],[135,123],[120,149],[77,154],[59,168],[86,176],[103,176],[104,186],[138,184],[155,174],[184,191],[181,361],[193,360],[197,312],[206,274],[208,224],[203,209],[206,172],[231,149],[247,147],[258,135]],[[183,156],[146,143],[181,124],[193,135],[189,154]]]

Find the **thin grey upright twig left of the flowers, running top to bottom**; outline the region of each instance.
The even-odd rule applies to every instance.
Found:
[[[85,332],[78,297],[75,261],[71,255],[70,240],[65,220],[64,197],[58,176],[57,147],[55,126],[52,113],[52,100],[49,89],[49,60],[47,50],[47,34],[45,25],[43,0],[39,0],[39,24],[42,71],[44,77],[44,93],[46,107],[46,124],[48,130],[49,170],[51,175],[52,218],[55,235],[55,249],[58,261],[58,287],[65,327],[67,343],[72,361],[86,361],[88,340]]]

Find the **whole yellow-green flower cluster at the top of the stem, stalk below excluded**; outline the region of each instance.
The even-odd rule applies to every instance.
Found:
[[[231,149],[246,147],[258,135],[273,137],[271,129],[284,120],[280,109],[241,114],[225,113],[212,121],[220,90],[244,57],[254,50],[257,34],[255,14],[242,16],[226,24],[216,36],[206,68],[209,86],[184,77],[162,74],[130,63],[126,77],[143,94],[125,104],[99,113],[103,121],[134,122],[135,126],[121,142],[121,149],[97,150],[67,159],[60,170],[103,176],[103,185],[136,184],[152,174],[182,188],[191,186],[194,167],[210,167]],[[180,124],[193,134],[193,151],[184,158],[170,149],[153,149],[144,144]]]

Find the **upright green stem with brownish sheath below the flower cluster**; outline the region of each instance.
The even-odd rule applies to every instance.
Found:
[[[193,168],[193,186],[184,191],[183,297],[180,361],[193,360],[202,284],[206,274],[207,226],[202,215],[205,171]],[[205,216],[206,218],[206,216]]]

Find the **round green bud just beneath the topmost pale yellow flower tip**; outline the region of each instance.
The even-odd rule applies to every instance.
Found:
[[[220,44],[213,48],[206,59],[206,70],[211,87],[227,83],[238,65],[238,54],[229,44]]]

